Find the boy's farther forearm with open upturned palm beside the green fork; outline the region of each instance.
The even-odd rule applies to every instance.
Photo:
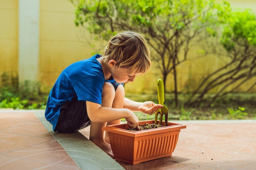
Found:
[[[154,102],[135,102],[128,98],[124,98],[124,108],[128,108],[131,111],[141,111],[148,115],[153,115],[157,110],[162,108],[161,104],[155,104]]]

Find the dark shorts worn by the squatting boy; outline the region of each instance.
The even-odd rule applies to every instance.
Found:
[[[119,83],[112,83],[115,90],[119,86]],[[61,107],[61,113],[58,118],[57,125],[54,131],[63,133],[72,133],[90,126],[90,119],[86,110],[86,102],[82,100],[73,99],[71,102],[66,102]]]

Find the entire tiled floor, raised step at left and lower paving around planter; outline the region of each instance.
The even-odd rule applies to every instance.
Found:
[[[89,128],[55,133],[44,110],[0,110],[0,170],[256,169],[256,120],[173,122],[186,129],[172,157],[129,165],[88,140]]]

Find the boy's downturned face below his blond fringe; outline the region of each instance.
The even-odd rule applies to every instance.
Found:
[[[135,77],[137,75],[140,75],[141,73],[131,73],[131,70],[129,68],[123,68],[123,67],[117,67],[115,66],[115,70],[111,73],[113,79],[117,83],[129,83],[134,82]]]

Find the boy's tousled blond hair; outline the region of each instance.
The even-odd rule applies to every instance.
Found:
[[[129,68],[133,73],[146,73],[151,66],[150,49],[144,37],[133,31],[113,36],[106,46],[103,62],[115,60],[117,67]]]

